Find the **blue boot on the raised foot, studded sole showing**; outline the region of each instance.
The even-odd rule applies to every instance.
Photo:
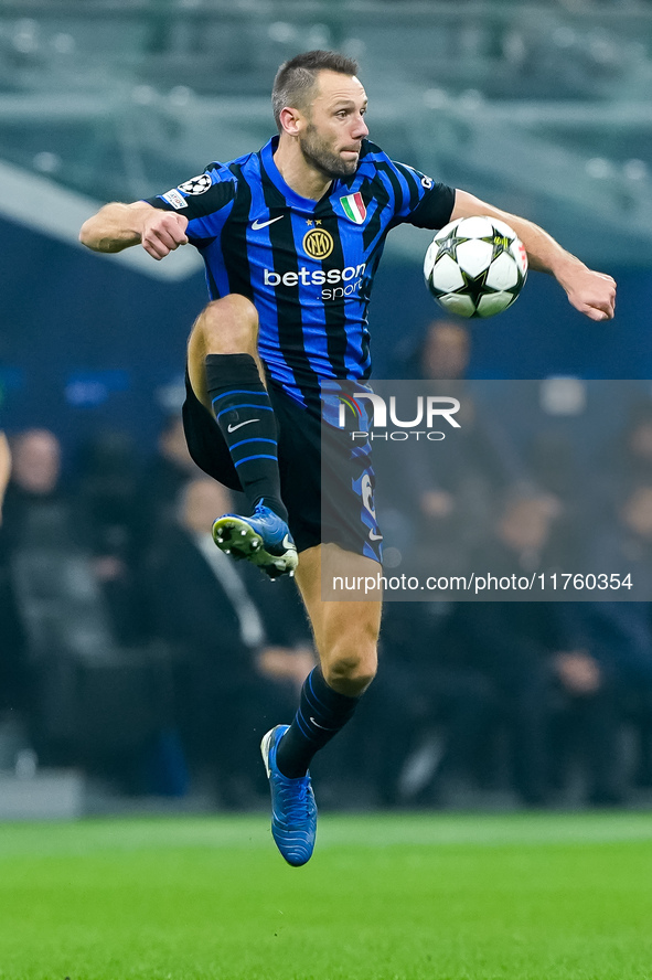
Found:
[[[247,558],[258,565],[270,578],[295,574],[299,563],[297,545],[289,528],[278,514],[256,504],[250,518],[223,514],[213,524],[213,541],[234,558]]]

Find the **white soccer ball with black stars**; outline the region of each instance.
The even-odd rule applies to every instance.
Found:
[[[424,262],[437,302],[459,317],[493,317],[511,306],[527,276],[516,233],[495,217],[459,217],[437,232]]]

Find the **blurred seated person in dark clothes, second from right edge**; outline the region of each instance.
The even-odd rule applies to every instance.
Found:
[[[543,572],[549,588],[551,572],[578,567],[566,551],[565,536],[555,536],[557,519],[555,498],[509,494],[493,540],[477,550],[472,568],[496,579],[535,576],[537,590]],[[546,597],[545,592],[541,595]],[[511,601],[502,601],[499,593],[495,601],[458,604],[450,638],[462,662],[481,671],[501,693],[514,786],[528,805],[549,799],[551,789],[562,781],[553,771],[551,738],[564,731],[565,738],[558,738],[560,758],[584,742],[587,797],[595,802],[616,800],[613,678],[579,643],[577,630],[568,629],[564,603],[522,601],[520,596],[526,594],[513,593]],[[559,773],[563,769],[560,765]]]

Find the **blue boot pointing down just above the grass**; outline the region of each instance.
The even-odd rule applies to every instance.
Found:
[[[310,774],[289,779],[279,773],[276,749],[289,725],[277,725],[260,743],[271,790],[271,835],[288,864],[300,867],[312,858],[317,835],[317,803]]]

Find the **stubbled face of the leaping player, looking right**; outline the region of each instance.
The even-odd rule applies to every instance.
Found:
[[[355,76],[320,72],[317,94],[299,134],[303,158],[327,177],[351,177],[357,169],[366,94]]]

